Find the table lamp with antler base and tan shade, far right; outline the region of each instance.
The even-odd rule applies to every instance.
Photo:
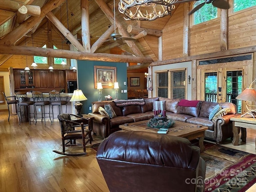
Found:
[[[245,90],[243,90],[242,93],[240,93],[236,97],[236,99],[246,101],[245,104],[246,104],[246,109],[248,110],[248,112],[242,114],[241,117],[250,115],[255,119],[253,112],[256,112],[256,109],[252,109],[252,107],[253,106],[256,107],[256,106],[248,104],[248,101],[256,101],[256,91],[254,90],[254,88],[252,88],[252,84],[254,84],[255,81],[256,81],[256,79],[250,84],[249,88],[246,88]]]

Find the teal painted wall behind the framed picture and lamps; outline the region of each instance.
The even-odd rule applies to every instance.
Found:
[[[98,101],[99,91],[94,89],[94,66],[111,66],[116,67],[116,76],[119,86],[118,99],[127,99],[127,93],[121,93],[121,90],[127,90],[127,66],[126,63],[115,62],[100,62],[100,61],[77,61],[77,82],[78,88],[82,90],[88,100],[81,101],[83,104],[81,113],[88,114],[92,112],[89,107],[92,106],[92,102]],[[126,82],[126,85],[124,85]],[[110,95],[114,99],[115,90],[113,88],[102,89],[102,101],[105,100],[104,96]]]

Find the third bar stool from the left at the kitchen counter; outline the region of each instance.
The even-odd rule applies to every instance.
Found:
[[[49,114],[50,121],[52,122],[51,117],[50,117],[50,101],[44,100],[44,96],[43,96],[42,92],[39,92],[39,91],[32,92],[32,97],[33,97],[33,100],[34,100],[34,111],[36,113],[36,118],[35,118],[36,122],[37,122],[37,112],[36,112],[36,107],[37,106],[41,106],[41,108],[42,108],[41,109],[42,122],[43,122],[43,118],[44,118],[44,124],[46,124],[46,122],[45,122],[45,114]],[[45,112],[45,106],[46,105],[49,106],[49,113]],[[44,112],[43,112],[43,109],[44,109]],[[35,124],[36,124],[36,122],[35,122]]]

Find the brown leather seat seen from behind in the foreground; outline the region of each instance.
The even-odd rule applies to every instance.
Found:
[[[185,138],[118,131],[101,142],[96,158],[110,192],[203,192],[199,154]]]

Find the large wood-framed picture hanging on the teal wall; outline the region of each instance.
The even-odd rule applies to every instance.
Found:
[[[114,88],[116,82],[116,67],[94,66],[94,88],[101,82],[102,88]]]

